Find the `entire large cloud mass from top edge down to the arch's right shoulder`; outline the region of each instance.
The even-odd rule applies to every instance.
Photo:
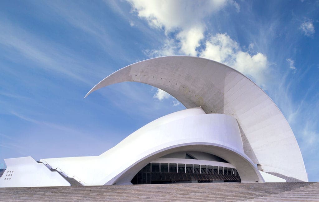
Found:
[[[145,19],[152,27],[162,29],[167,40],[156,50],[145,50],[150,57],[186,54],[201,56],[229,65],[246,76],[254,78],[260,86],[265,83],[265,71],[268,60],[264,54],[243,52],[239,44],[225,34],[209,35],[205,33],[205,18],[233,5],[240,11],[239,5],[230,0],[211,1],[147,1],[129,0],[132,11]],[[198,47],[205,47],[199,49]]]

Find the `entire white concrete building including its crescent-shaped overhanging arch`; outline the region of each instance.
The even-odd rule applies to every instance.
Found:
[[[0,187],[308,181],[285,117],[240,72],[199,57],[159,57],[114,72],[86,96],[126,81],[162,89],[187,109],[150,122],[99,156],[5,159]]]

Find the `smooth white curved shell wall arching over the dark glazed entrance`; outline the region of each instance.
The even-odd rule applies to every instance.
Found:
[[[44,161],[87,185],[124,184],[147,163],[179,151],[220,156],[236,166],[242,181],[263,182],[257,167],[244,154],[236,119],[225,114],[205,114],[201,108],[154,120],[100,156]]]

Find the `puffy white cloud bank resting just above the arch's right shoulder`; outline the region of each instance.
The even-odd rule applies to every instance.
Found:
[[[265,84],[265,72],[269,63],[265,55],[243,52],[239,44],[226,33],[211,36],[206,40],[205,46],[205,49],[200,53],[201,57],[233,67],[246,76],[256,79],[260,86]]]

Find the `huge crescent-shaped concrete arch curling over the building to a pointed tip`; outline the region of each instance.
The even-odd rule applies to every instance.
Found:
[[[140,82],[166,91],[186,108],[237,119],[244,152],[260,170],[308,181],[296,138],[270,97],[249,78],[219,62],[192,56],[167,56],[126,66],[95,85]]]

